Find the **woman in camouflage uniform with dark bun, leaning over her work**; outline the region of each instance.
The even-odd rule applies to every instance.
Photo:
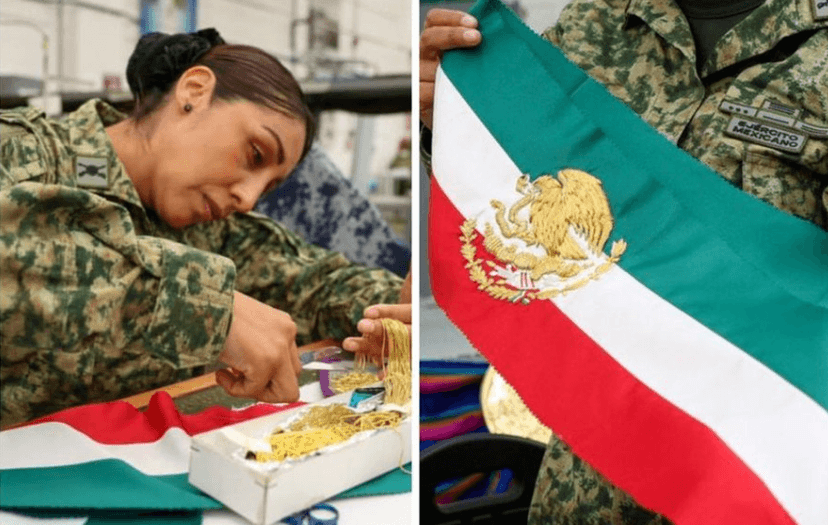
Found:
[[[401,279],[251,213],[307,153],[312,116],[263,51],[144,36],[132,116],[0,116],[0,424],[169,384],[298,397],[296,344],[356,332]]]

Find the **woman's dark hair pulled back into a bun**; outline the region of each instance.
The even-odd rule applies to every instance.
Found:
[[[127,82],[135,97],[132,117],[140,120],[158,109],[178,78],[196,65],[208,67],[216,76],[214,99],[241,98],[302,121],[304,158],[315,125],[296,79],[273,56],[256,47],[226,44],[213,28],[141,37],[127,62]]]

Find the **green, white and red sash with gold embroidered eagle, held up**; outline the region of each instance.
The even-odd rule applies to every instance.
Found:
[[[434,296],[678,524],[828,523],[828,233],[732,187],[494,0],[438,72]]]

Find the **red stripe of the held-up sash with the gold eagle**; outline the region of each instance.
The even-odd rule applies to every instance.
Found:
[[[522,305],[478,291],[460,254],[463,221],[433,177],[434,297],[578,456],[676,523],[794,523],[715,433],[630,374],[551,301]],[[480,235],[474,244],[482,256]]]

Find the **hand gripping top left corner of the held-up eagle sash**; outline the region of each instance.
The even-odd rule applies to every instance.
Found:
[[[462,11],[432,9],[420,35],[420,120],[431,129],[434,77],[443,51],[480,43],[477,20]]]

